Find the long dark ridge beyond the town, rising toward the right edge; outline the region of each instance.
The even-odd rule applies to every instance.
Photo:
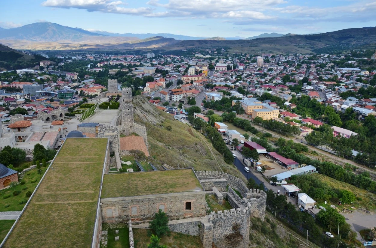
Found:
[[[349,28],[321,34],[289,35],[252,40],[183,40],[161,49],[227,48],[226,50],[229,52],[285,54],[331,52],[371,44],[376,44],[376,27]]]

